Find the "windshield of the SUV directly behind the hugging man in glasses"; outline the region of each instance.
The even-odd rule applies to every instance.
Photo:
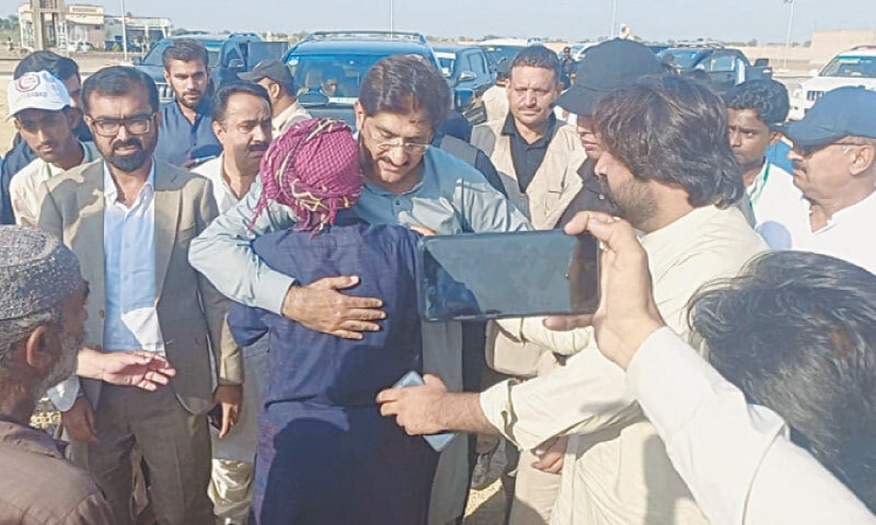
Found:
[[[365,73],[385,55],[292,55],[286,61],[298,94],[321,93],[332,103],[351,104]],[[433,61],[431,57],[426,57]]]

